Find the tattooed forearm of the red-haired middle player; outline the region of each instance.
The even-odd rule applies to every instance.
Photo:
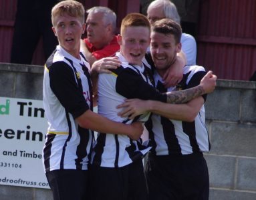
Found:
[[[172,91],[167,94],[167,103],[186,103],[196,97],[200,97],[205,94],[205,91],[201,85],[190,89],[184,89],[180,91]]]

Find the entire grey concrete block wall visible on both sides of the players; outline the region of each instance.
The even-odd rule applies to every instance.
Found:
[[[42,99],[43,67],[0,63],[0,97]],[[210,199],[256,199],[256,82],[219,80],[206,103]],[[52,199],[49,189],[0,185],[1,200]]]

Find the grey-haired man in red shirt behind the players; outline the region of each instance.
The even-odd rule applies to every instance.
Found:
[[[120,49],[116,31],[116,14],[108,7],[92,7],[86,11],[87,37],[81,43],[81,51],[92,66],[94,61],[111,57]]]

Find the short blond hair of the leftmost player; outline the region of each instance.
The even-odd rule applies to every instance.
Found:
[[[72,17],[80,18],[81,23],[84,23],[84,6],[82,3],[75,0],[60,1],[51,9],[51,23],[55,25],[57,16],[68,14]]]

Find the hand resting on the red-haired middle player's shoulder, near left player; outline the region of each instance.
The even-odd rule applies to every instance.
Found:
[[[120,67],[121,61],[118,57],[104,57],[92,64],[92,71],[94,73],[111,73],[108,69],[116,69]]]

